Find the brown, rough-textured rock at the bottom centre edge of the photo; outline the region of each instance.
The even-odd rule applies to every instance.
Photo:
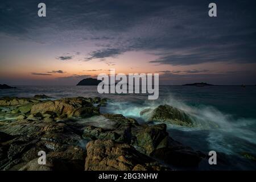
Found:
[[[86,171],[130,171],[167,169],[154,159],[139,153],[126,143],[113,140],[94,140],[86,145]]]

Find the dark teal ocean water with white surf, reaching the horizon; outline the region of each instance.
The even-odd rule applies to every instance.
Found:
[[[147,94],[98,94],[97,86],[17,86],[0,90],[0,97],[35,94],[110,98],[108,106],[101,108],[103,113],[123,114],[139,122],[144,122],[139,114],[143,109],[163,104],[177,107],[192,115],[201,127],[168,125],[170,136],[205,154],[214,150],[226,159],[216,166],[203,161],[199,169],[256,169],[256,162],[241,156],[241,152],[256,155],[256,86],[160,86],[158,100],[147,100]]]

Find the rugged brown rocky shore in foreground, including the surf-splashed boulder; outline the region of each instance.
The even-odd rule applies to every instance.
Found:
[[[108,100],[100,97],[0,98],[0,169],[158,171],[196,168],[206,158],[167,133],[166,123],[194,126],[183,111],[147,109],[141,115],[148,123],[139,124],[101,113],[104,106]],[[46,152],[46,165],[38,164],[39,151]]]

